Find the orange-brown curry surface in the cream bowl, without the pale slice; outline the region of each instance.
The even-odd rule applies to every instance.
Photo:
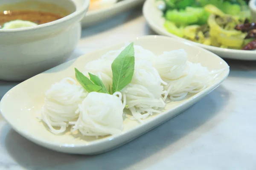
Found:
[[[64,16],[58,14],[43,12],[43,11],[32,11],[32,10],[16,10],[16,11],[3,11],[0,13],[0,28],[3,27],[4,23],[13,21],[13,20],[26,20],[38,25],[49,23],[58,19],[61,19]]]

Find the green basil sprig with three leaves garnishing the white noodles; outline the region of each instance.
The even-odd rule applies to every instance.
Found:
[[[100,92],[113,94],[116,91],[121,91],[126,85],[131,82],[134,74],[134,43],[132,42],[128,45],[111,64],[113,83],[112,89],[109,85],[109,91],[103,84],[102,80],[94,74],[88,73],[90,79],[84,76],[78,69],[75,68],[76,79],[81,84],[81,86],[87,92]]]

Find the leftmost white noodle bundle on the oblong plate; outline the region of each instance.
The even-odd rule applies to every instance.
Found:
[[[76,121],[79,113],[78,104],[87,96],[84,88],[76,85],[76,80],[67,77],[52,85],[46,92],[41,119],[48,125],[52,133],[58,134],[66,130],[68,122]],[[57,128],[56,128],[57,127]]]

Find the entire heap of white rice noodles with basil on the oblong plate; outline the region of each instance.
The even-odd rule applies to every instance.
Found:
[[[162,113],[168,97],[174,102],[199,93],[226,70],[209,71],[187,59],[184,49],[156,56],[140,45],[125,44],[88,62],[82,74],[76,69],[81,85],[70,77],[53,84],[46,92],[41,119],[55,134],[68,126],[84,136],[122,133],[124,109],[131,112],[130,119],[143,122]]]

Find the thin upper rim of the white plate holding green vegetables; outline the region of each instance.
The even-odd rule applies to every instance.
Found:
[[[181,37],[178,37],[176,36],[175,34],[172,34],[172,33],[169,33],[167,30],[163,30],[161,28],[161,26],[157,25],[156,23],[152,22],[152,20],[148,20],[148,12],[147,12],[147,8],[148,6],[151,5],[151,2],[153,0],[146,0],[144,5],[143,5],[143,16],[146,20],[146,22],[148,23],[148,25],[153,28],[153,30],[155,32],[157,32],[157,34],[160,34],[160,35],[164,35],[164,36],[168,36],[168,37],[173,37],[173,38],[177,38],[177,39],[180,39],[180,40],[183,40],[183,41],[186,41],[186,42],[190,42],[194,45],[197,45],[201,48],[205,48],[209,51],[215,51],[215,52],[228,52],[228,53],[240,53],[240,54],[256,54],[256,51],[249,51],[249,50],[238,50],[238,49],[230,49],[230,48],[220,48],[220,47],[215,47],[215,46],[211,46],[211,45],[205,45],[205,44],[201,44],[201,43],[198,43],[198,42],[193,42],[193,41],[190,41],[190,40],[187,40],[185,38],[181,38]],[[250,3],[256,3],[256,0],[250,0]],[[256,7],[256,4],[255,4],[255,7]],[[256,8],[255,8],[256,10]]]

